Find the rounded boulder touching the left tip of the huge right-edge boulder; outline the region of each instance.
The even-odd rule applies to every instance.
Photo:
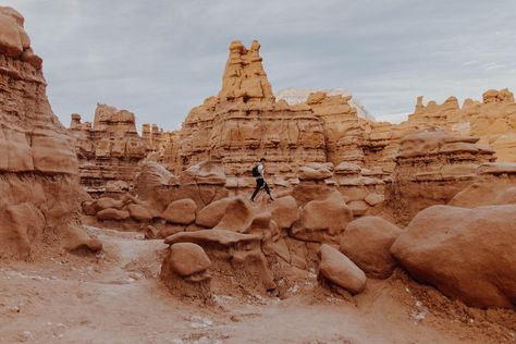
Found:
[[[386,279],[396,267],[390,249],[400,234],[402,230],[382,218],[363,217],[346,226],[340,250],[369,277]]]

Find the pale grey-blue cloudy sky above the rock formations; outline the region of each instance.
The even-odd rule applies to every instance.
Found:
[[[515,0],[4,0],[26,19],[67,126],[97,102],[181,125],[216,95],[230,41],[261,42],[273,89],[349,89],[380,120],[416,97],[516,90]]]

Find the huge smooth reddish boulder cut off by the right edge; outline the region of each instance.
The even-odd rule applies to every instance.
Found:
[[[420,211],[391,247],[416,280],[474,307],[516,306],[516,206]]]

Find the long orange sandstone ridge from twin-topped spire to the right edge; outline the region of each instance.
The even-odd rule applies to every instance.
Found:
[[[467,99],[462,108],[454,97],[442,106],[423,106],[420,97],[407,121],[373,122],[359,115],[352,97],[342,93],[316,91],[293,105],[277,101],[257,41],[249,49],[239,41],[231,44],[221,91],[191,111],[164,149],[163,160],[174,173],[218,160],[229,177],[243,177],[266,156],[268,172],[282,184],[314,162],[354,163],[385,177],[394,171],[403,137],[435,128],[479,137],[499,160],[516,161],[516,105],[507,89],[487,91],[483,102]]]

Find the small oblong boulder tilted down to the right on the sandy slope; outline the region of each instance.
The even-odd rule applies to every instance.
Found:
[[[322,244],[319,249],[319,278],[358,294],[366,288],[366,274],[345,255],[330,245]]]

